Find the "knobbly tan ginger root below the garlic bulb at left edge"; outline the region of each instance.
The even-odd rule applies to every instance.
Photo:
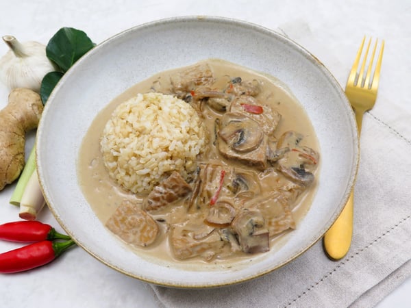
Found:
[[[35,129],[43,105],[40,95],[26,88],[10,92],[0,110],[0,190],[12,183],[25,165],[25,134]]]

